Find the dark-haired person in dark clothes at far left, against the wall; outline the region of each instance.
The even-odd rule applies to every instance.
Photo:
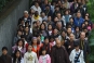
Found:
[[[2,48],[2,55],[0,55],[0,63],[12,63],[12,58],[8,54],[8,48]]]

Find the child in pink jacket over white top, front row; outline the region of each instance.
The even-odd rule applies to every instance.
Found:
[[[39,63],[51,63],[51,58],[46,54],[46,50],[42,48],[41,55],[39,56]]]

